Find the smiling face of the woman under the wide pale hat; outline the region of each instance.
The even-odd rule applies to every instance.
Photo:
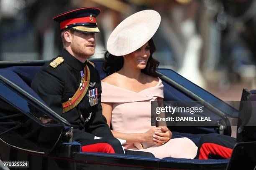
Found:
[[[150,47],[148,42],[140,47],[138,50],[124,55],[124,64],[128,64],[131,67],[144,69],[147,65],[148,58],[150,56]]]

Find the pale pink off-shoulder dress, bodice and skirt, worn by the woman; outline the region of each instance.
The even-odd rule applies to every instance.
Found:
[[[101,102],[113,103],[111,125],[113,130],[121,133],[145,133],[151,128],[151,101],[157,97],[164,98],[164,85],[161,80],[154,87],[140,92],[102,82]],[[144,149],[156,158],[193,159],[197,154],[197,146],[188,138],[175,138],[164,145],[143,143]],[[138,150],[132,144],[125,145],[130,150]]]

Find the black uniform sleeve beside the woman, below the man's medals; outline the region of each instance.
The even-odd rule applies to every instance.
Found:
[[[97,88],[98,88],[98,104],[93,106],[93,116],[92,121],[90,122],[90,131],[93,135],[97,137],[113,137],[113,134],[107,124],[107,120],[105,116],[102,115],[102,107],[101,107],[101,81],[100,75],[97,72]]]

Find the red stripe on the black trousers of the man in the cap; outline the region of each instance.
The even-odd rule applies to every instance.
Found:
[[[108,143],[95,143],[81,148],[83,152],[115,153],[113,147]]]

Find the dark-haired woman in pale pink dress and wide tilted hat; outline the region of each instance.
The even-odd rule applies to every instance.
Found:
[[[188,138],[172,139],[166,126],[151,126],[151,101],[163,100],[156,69],[159,62],[152,36],[160,15],[144,10],[123,20],[108,39],[102,80],[102,113],[115,138],[126,140],[126,149],[150,152],[156,158],[193,159],[197,146]]]

